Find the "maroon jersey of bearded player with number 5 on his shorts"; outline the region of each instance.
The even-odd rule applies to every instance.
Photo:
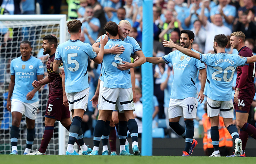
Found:
[[[47,63],[47,73],[48,78],[50,80],[49,83],[49,98],[60,98],[63,99],[62,94],[62,79],[58,73],[53,72],[53,60],[55,57],[55,53],[51,55],[48,59]],[[60,63],[60,66],[63,65],[63,63]]]

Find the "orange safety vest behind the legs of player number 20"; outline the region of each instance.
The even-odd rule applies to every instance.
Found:
[[[203,114],[203,129],[204,129],[204,137],[203,137],[203,150],[208,148],[213,148],[212,139],[211,139],[211,122],[210,117],[207,116],[207,113]],[[231,137],[230,133],[226,129],[224,125],[223,118],[219,116],[219,147],[232,147],[233,146],[233,138]]]

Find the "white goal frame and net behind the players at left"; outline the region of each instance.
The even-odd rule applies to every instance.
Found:
[[[37,39],[37,40],[32,40],[31,42],[34,42],[33,45],[36,45],[36,46],[33,47],[33,52],[39,52],[39,49],[41,49],[40,45],[42,44],[42,37],[45,36],[45,35],[49,35],[49,34],[52,34],[54,32],[56,33],[56,31],[57,31],[58,36],[56,36],[56,37],[58,39],[58,44],[63,43],[67,40],[67,22],[66,22],[66,20],[67,20],[66,15],[62,15],[62,14],[61,15],[0,15],[0,29],[1,28],[9,29],[9,32],[11,33],[10,36],[13,33],[13,31],[11,29],[14,29],[14,28],[18,27],[19,28],[18,33],[20,31],[22,31],[20,29],[24,29],[24,28],[29,29],[27,31],[26,36],[28,36],[30,38]],[[1,32],[1,30],[0,30],[0,32]],[[17,49],[16,53],[17,54],[19,53],[18,45],[24,39],[24,38],[22,38],[23,36],[25,36],[25,34],[20,36],[20,38],[17,41],[17,44],[16,44],[16,49]],[[5,45],[5,44],[8,44],[7,42],[8,41],[3,41],[3,39],[1,39],[0,44]],[[10,45],[13,45],[11,43],[11,41],[10,41]],[[37,47],[37,48],[35,48],[35,47]],[[5,53],[1,53],[1,58],[2,58],[3,61],[5,61],[5,63],[4,63],[5,65],[9,64],[8,62],[6,62],[7,60],[11,60],[14,57],[17,57],[17,55],[16,56],[12,55],[12,57],[10,57],[8,55],[5,55]],[[0,64],[2,64],[2,63],[0,63]],[[4,72],[4,74],[9,74],[8,69],[9,69],[8,66],[5,66],[4,70],[2,70],[2,72]],[[3,74],[3,73],[1,73],[1,74]],[[4,97],[4,93],[7,92],[8,84],[9,84],[9,82],[8,82],[9,78],[10,78],[10,76],[4,75],[4,77],[3,77],[4,82],[2,84],[2,87],[1,87],[1,84],[0,84],[0,90],[3,93],[2,97]],[[0,99],[0,101],[2,101],[1,103],[4,104],[5,98]],[[43,105],[45,105],[45,104],[43,104]],[[4,122],[3,120],[5,118],[4,117],[4,114],[5,114],[4,111],[5,111],[5,109],[4,109],[4,107],[2,107],[2,109],[0,110],[0,125],[1,125],[1,128],[2,128],[2,125],[4,124],[3,123]],[[41,113],[43,113],[43,112],[41,112]],[[10,114],[9,114],[9,117],[11,117]],[[10,124],[11,118],[8,118],[8,120],[9,120],[8,126],[11,126],[11,124]],[[43,119],[41,119],[41,120],[43,120]],[[43,123],[42,123],[42,125],[43,125]],[[5,127],[6,130],[7,130],[8,126]],[[3,130],[3,129],[0,129],[0,130]],[[57,134],[58,135],[58,154],[62,155],[62,154],[65,154],[65,152],[66,152],[66,147],[65,147],[65,144],[66,144],[66,129],[61,125],[60,122],[58,122],[58,132],[57,133],[58,133]],[[6,142],[9,143],[10,141],[8,141],[8,137],[7,137],[8,135],[10,135],[9,131],[6,132],[6,135],[3,134],[3,136],[2,136],[2,134],[0,134],[0,137],[1,137],[0,139],[2,140],[2,137],[5,137],[5,139],[7,140]],[[42,134],[40,134],[39,136],[41,136],[41,135]],[[25,138],[26,138],[26,136],[25,136]],[[9,136],[9,139],[10,139],[10,136]],[[22,139],[20,138],[20,140],[22,140]],[[35,140],[36,140],[36,138],[35,138]],[[37,141],[37,148],[39,148],[40,147],[40,144],[39,144],[40,142],[39,142],[38,138],[37,138],[37,140],[38,140]],[[0,145],[0,149],[4,148],[5,145],[8,145],[8,143],[4,143],[3,147],[1,147],[1,145]],[[18,142],[18,144],[19,144],[19,142]],[[34,142],[34,144],[35,144],[35,142]],[[9,143],[9,145],[10,145],[10,143]],[[22,141],[20,141],[20,145],[21,145],[20,147],[22,147]],[[35,147],[36,146],[33,146],[32,148],[34,148],[34,150],[35,150]],[[49,150],[49,152],[50,152],[50,150]],[[6,154],[6,153],[8,153],[8,152],[1,150],[1,154]],[[55,152],[54,152],[54,154],[55,154]]]

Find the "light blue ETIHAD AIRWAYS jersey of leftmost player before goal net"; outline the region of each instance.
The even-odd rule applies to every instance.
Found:
[[[38,101],[38,92],[35,92],[31,100],[27,100],[28,92],[34,87],[32,83],[37,80],[37,75],[44,74],[43,63],[40,59],[31,56],[29,60],[22,61],[21,56],[11,61],[11,75],[15,75],[15,85],[12,98],[24,103],[34,103]]]

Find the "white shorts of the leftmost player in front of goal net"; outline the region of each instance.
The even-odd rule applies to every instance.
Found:
[[[29,119],[35,120],[39,101],[34,103],[24,103],[17,99],[11,99],[11,112],[19,112]]]

